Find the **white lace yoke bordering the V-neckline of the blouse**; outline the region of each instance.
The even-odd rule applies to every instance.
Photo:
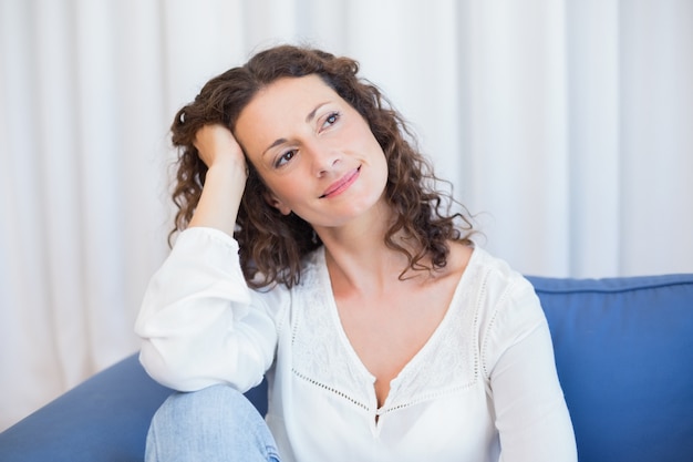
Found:
[[[443,320],[412,360],[392,380],[384,405],[377,409],[375,378],[363,366],[341,326],[324,263],[318,250],[297,287],[303,299],[292,333],[293,373],[299,379],[379,415],[436,399],[474,384],[479,374],[476,305],[480,271],[463,274]]]

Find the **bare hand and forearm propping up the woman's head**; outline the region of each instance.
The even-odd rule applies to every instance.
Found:
[[[248,179],[244,152],[231,131],[219,124],[199,129],[194,145],[209,170],[189,226],[216,228],[232,236]]]

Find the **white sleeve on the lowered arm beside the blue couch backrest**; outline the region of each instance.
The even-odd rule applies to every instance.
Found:
[[[576,462],[572,424],[544,311],[528,283],[508,290],[484,348],[500,438],[499,460]]]

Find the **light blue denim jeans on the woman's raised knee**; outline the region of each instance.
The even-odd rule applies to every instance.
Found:
[[[174,393],[156,411],[146,462],[279,462],[265,420],[242,393],[214,386]]]

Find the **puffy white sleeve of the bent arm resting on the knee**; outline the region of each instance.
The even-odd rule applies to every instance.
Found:
[[[135,324],[139,360],[176,390],[228,383],[246,391],[273,361],[280,299],[248,289],[232,238],[189,228],[146,290]]]

